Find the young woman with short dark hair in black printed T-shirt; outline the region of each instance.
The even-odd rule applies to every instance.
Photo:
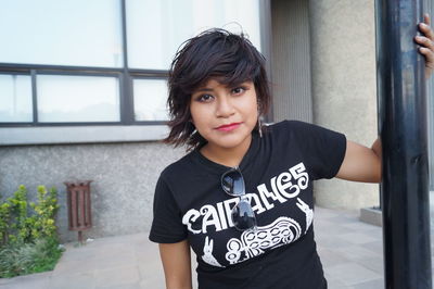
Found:
[[[429,24],[427,16],[425,23]],[[427,70],[433,33],[416,41]],[[166,141],[190,152],[157,181],[150,239],[159,243],[167,288],[327,288],[314,241],[312,181],[381,180],[381,148],[316,125],[267,127],[264,56],[242,35],[207,30],[189,39],[169,74]]]

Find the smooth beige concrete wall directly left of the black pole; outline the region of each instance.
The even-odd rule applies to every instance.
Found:
[[[374,0],[310,0],[314,122],[370,147],[376,138]],[[317,204],[379,204],[379,186],[316,184]]]

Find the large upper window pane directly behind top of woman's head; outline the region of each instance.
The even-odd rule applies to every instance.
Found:
[[[258,0],[127,0],[128,66],[168,70],[178,47],[201,30],[241,29],[260,49]]]

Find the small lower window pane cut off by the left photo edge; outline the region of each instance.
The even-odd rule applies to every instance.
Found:
[[[0,75],[0,122],[33,122],[31,78]]]

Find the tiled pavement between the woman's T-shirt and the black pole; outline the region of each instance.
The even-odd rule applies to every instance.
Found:
[[[384,288],[382,229],[358,216],[316,208],[315,236],[330,289]]]

